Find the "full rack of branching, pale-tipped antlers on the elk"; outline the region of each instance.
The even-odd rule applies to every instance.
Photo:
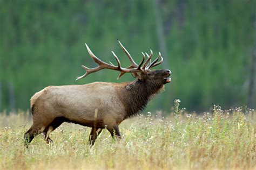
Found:
[[[131,73],[131,72],[143,73],[143,72],[145,72],[145,70],[150,70],[150,68],[155,67],[157,65],[160,65],[160,63],[163,62],[163,58],[161,57],[161,53],[159,52],[159,55],[158,55],[157,59],[154,60],[151,63],[151,58],[152,58],[153,52],[152,52],[152,50],[150,50],[150,55],[148,55],[146,53],[146,55],[147,55],[146,62],[144,63],[144,61],[145,61],[145,54],[142,53],[143,54],[143,59],[142,59],[142,61],[140,61],[139,65],[137,65],[137,63],[132,59],[130,53],[125,49],[125,47],[121,44],[121,42],[120,41],[118,41],[118,42],[119,42],[121,48],[123,49],[123,51],[125,52],[125,54],[127,55],[127,57],[129,58],[129,60],[131,61],[131,65],[129,67],[123,68],[121,66],[121,63],[120,63],[117,55],[113,51],[112,51],[112,54],[113,54],[114,58],[117,60],[117,66],[113,65],[111,62],[109,64],[109,63],[106,63],[106,62],[98,59],[97,56],[91,52],[91,49],[87,46],[87,44],[85,44],[88,53],[90,54],[90,56],[93,59],[93,61],[95,61],[98,64],[98,67],[88,68],[88,67],[82,65],[82,67],[86,70],[86,73],[84,75],[82,75],[82,76],[77,77],[76,80],[83,79],[87,75],[89,75],[91,73],[98,72],[99,70],[104,69],[104,68],[118,70],[120,72],[120,74],[119,74],[117,79],[119,79],[125,73]],[[158,62],[158,60],[160,58],[161,58],[161,60]],[[144,65],[143,65],[143,63],[144,63]]]

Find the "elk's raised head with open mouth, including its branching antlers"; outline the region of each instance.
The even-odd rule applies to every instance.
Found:
[[[117,55],[112,51],[112,54],[114,58],[117,61],[117,66],[113,65],[111,62],[106,63],[100,59],[97,58],[95,54],[91,52],[91,49],[86,45],[87,51],[90,54],[91,58],[98,64],[98,67],[96,68],[88,68],[84,65],[82,67],[86,70],[86,73],[82,76],[77,77],[76,80],[83,79],[87,75],[91,73],[95,73],[101,69],[107,68],[107,69],[113,69],[120,72],[117,79],[119,79],[122,75],[125,73],[131,73],[133,77],[136,77],[139,81],[145,82],[145,83],[151,83],[153,82],[156,86],[163,86],[165,83],[171,82],[171,78],[169,77],[171,75],[171,71],[168,69],[160,69],[160,70],[151,70],[151,68],[156,67],[160,65],[163,62],[163,57],[161,56],[161,53],[158,53],[158,57],[156,60],[151,62],[151,58],[153,55],[152,50],[150,50],[150,55],[146,53],[142,53],[143,59],[140,61],[139,64],[137,64],[131,57],[130,53],[125,49],[125,47],[121,44],[120,41],[118,41],[121,48],[127,55],[128,59],[131,61],[131,65],[129,67],[123,68],[121,66],[121,63],[117,57]],[[146,59],[147,56],[147,59]],[[145,61],[146,60],[146,61]],[[145,61],[145,62],[144,62]]]

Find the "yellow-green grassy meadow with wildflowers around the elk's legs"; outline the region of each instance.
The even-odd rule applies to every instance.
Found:
[[[157,115],[157,116],[156,116]],[[64,123],[51,133],[53,144],[37,136],[23,146],[29,112],[0,114],[0,169],[255,169],[256,114],[215,106],[201,116],[177,107],[128,119],[122,139],[104,130],[93,147],[89,128]]]

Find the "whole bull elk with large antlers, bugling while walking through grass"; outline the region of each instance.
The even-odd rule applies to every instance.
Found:
[[[124,119],[138,115],[152,96],[162,91],[165,83],[171,82],[170,70],[151,70],[163,62],[160,52],[153,62],[151,62],[152,51],[150,55],[146,53],[146,56],[142,53],[143,59],[137,64],[120,41],[119,44],[131,61],[129,67],[123,68],[113,51],[117,66],[98,59],[85,44],[91,58],[98,66],[96,68],[82,66],[86,73],[77,77],[76,80],[83,79],[101,69],[117,70],[120,72],[118,79],[125,73],[131,73],[136,80],[123,83],[93,82],[83,85],[49,86],[38,91],[32,96],[30,102],[33,124],[24,135],[26,146],[36,134],[42,132],[47,142],[52,141],[49,137],[50,132],[63,122],[91,127],[89,143],[92,145],[95,143],[97,134],[105,128],[112,137],[114,135],[120,137],[118,125]],[[95,109],[98,109],[96,121]],[[96,124],[96,127],[93,124]],[[95,137],[93,137],[93,129],[96,131]]]

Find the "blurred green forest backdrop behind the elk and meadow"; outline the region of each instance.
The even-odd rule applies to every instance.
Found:
[[[141,52],[160,51],[157,68],[172,70],[146,111],[170,111],[176,98],[189,111],[255,107],[255,8],[255,0],[0,0],[0,111],[29,109],[49,85],[132,81],[113,70],[75,81],[81,65],[96,66],[85,43],[100,59],[116,63],[113,50],[129,66],[118,40],[137,62]]]

